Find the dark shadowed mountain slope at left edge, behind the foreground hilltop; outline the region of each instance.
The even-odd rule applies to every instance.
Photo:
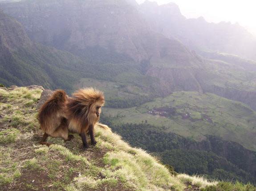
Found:
[[[0,28],[1,83],[72,89],[84,63],[80,58],[33,43],[21,24],[2,12]]]

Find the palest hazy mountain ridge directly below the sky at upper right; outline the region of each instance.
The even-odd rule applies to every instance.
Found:
[[[152,30],[175,37],[194,50],[220,51],[256,59],[256,37],[239,24],[208,23],[203,17],[186,19],[176,4],[145,1],[140,11]]]

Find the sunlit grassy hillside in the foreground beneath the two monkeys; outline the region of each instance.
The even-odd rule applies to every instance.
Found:
[[[38,145],[41,130],[35,107],[41,90],[0,89],[0,185],[10,190],[177,190],[179,177],[145,151],[97,129],[98,144],[87,152],[81,139],[51,138]],[[154,172],[152,174],[152,172]],[[198,186],[205,187],[208,182]]]

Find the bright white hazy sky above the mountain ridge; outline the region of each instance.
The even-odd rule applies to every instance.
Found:
[[[145,0],[137,0],[143,3]],[[209,22],[238,22],[256,34],[256,0],[150,0],[158,4],[174,2],[187,18],[203,16]]]

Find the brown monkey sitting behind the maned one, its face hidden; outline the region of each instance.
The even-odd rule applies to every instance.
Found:
[[[65,108],[67,104],[67,94],[64,90],[56,90],[53,95],[42,105],[38,113],[40,127],[45,133],[41,144],[47,144],[45,140],[48,136],[61,137],[70,140],[68,123],[65,119]]]

